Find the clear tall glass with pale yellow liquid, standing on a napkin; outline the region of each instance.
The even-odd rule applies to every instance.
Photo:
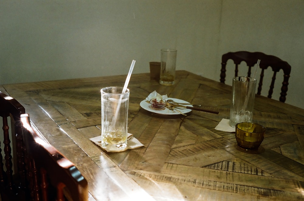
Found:
[[[122,91],[123,87],[116,86],[101,89],[101,143],[107,150],[117,151],[127,146],[130,91]]]

